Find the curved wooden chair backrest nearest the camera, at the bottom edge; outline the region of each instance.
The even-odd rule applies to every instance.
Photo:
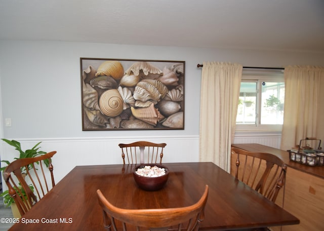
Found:
[[[149,230],[168,230],[168,227],[176,227],[175,230],[198,230],[204,220],[204,209],[208,198],[208,185],[205,186],[203,196],[193,205],[182,208],[166,209],[121,209],[113,206],[103,196],[100,189],[97,190],[99,204],[103,210],[104,227],[107,230],[117,231],[116,223],[123,230],[134,228],[149,228]],[[121,227],[119,228],[121,229]]]

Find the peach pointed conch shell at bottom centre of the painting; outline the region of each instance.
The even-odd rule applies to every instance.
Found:
[[[153,103],[151,103],[149,107],[131,107],[131,111],[136,119],[153,126],[155,126],[160,120],[164,119],[164,116],[154,107]]]

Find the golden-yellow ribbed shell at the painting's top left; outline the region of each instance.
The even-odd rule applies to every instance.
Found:
[[[97,69],[96,76],[107,75],[115,80],[121,79],[124,75],[124,67],[117,60],[107,60],[100,64]]]

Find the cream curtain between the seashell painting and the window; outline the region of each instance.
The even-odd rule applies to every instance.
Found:
[[[201,71],[199,161],[230,172],[242,65],[204,62]]]

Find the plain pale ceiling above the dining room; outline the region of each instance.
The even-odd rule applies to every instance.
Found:
[[[0,0],[0,40],[324,52],[324,1]]]

